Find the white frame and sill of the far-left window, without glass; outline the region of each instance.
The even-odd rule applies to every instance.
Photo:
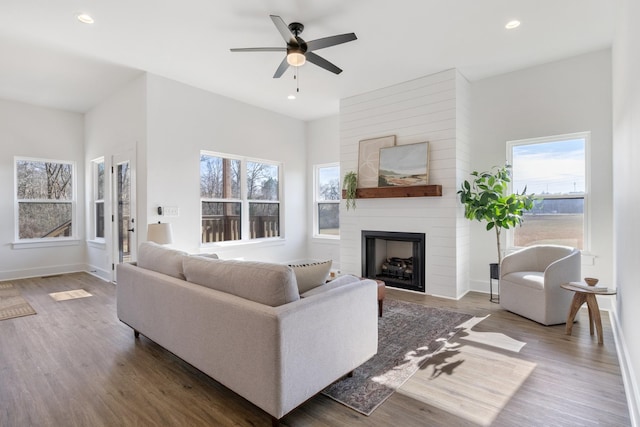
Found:
[[[55,163],[71,166],[71,199],[57,201],[55,199],[18,199],[18,162],[38,162]],[[14,200],[14,248],[20,247],[46,247],[46,246],[66,246],[75,244],[78,237],[78,168],[73,160],[45,159],[40,157],[14,156],[13,158],[13,200]],[[71,205],[71,235],[62,237],[39,237],[32,239],[20,238],[20,204],[21,203],[59,203]]]

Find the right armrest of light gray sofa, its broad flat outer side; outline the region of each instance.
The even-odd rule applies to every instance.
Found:
[[[279,307],[283,413],[376,354],[377,295],[359,280]]]

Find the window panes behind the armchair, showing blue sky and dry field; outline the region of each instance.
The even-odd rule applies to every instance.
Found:
[[[522,227],[509,233],[510,246],[558,244],[588,249],[587,153],[589,133],[507,143],[512,189],[535,193]]]

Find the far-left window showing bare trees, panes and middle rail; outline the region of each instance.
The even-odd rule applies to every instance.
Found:
[[[16,240],[74,236],[74,165],[15,159]]]

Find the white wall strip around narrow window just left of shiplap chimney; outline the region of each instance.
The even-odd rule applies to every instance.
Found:
[[[332,269],[340,270],[340,240],[313,238],[313,166],[340,162],[340,116],[307,122],[307,256],[333,261]],[[341,175],[342,176],[342,175]]]

